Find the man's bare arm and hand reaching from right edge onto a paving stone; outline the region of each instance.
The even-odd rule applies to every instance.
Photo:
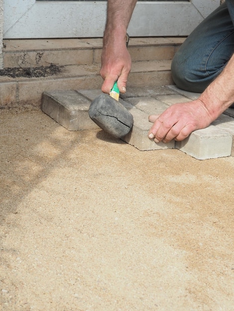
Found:
[[[182,141],[193,131],[209,126],[233,103],[234,55],[197,100],[172,105],[160,116],[149,116],[154,124],[148,136],[155,142]]]

